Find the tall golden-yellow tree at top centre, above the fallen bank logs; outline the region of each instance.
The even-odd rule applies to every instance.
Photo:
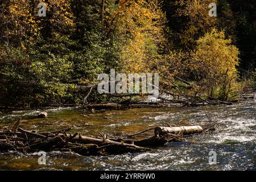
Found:
[[[119,1],[108,20],[108,31],[122,43],[121,63],[126,73],[142,73],[154,69],[159,48],[164,43],[165,15],[158,0]]]

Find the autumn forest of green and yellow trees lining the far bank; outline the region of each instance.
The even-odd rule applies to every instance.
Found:
[[[40,16],[46,5],[46,14]],[[210,16],[210,3],[217,16]],[[0,106],[119,102],[77,85],[159,73],[174,98],[234,101],[255,89],[255,0],[2,0]],[[90,92],[92,91],[92,92]],[[88,97],[88,98],[87,98]],[[127,97],[126,97],[127,98]],[[143,94],[131,97],[141,100]]]

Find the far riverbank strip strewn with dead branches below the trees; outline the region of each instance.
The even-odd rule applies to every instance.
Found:
[[[232,105],[237,102],[243,102],[245,100],[254,99],[256,94],[256,89],[249,89],[245,92],[238,93],[234,97],[238,97],[239,99],[231,100],[231,101],[220,101],[216,98],[202,98],[202,97],[183,97],[180,96],[178,100],[170,99],[170,94],[160,94],[158,100],[145,100],[145,96],[141,98],[135,98],[134,100],[131,99],[131,96],[126,96],[124,94],[118,94],[118,98],[122,98],[118,100],[119,102],[100,102],[98,104],[95,103],[87,103],[83,105],[76,105],[76,104],[48,104],[43,107],[15,107],[15,106],[6,106],[0,105],[1,110],[30,110],[30,109],[48,109],[52,107],[82,107],[89,110],[112,110],[112,109],[132,109],[132,108],[155,108],[155,107],[181,107],[181,106],[188,106],[188,107],[195,107],[195,106],[207,106],[207,105]],[[113,96],[115,97],[115,96]],[[138,95],[139,97],[139,95]]]

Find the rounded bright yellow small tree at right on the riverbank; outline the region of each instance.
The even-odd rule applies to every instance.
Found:
[[[197,40],[191,66],[202,90],[207,90],[210,97],[228,100],[236,89],[238,54],[231,39],[225,39],[224,31],[213,29]]]

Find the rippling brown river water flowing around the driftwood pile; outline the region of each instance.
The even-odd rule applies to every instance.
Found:
[[[216,124],[216,131],[194,135],[185,142],[170,142],[150,152],[80,156],[71,152],[47,152],[46,165],[38,164],[38,154],[0,153],[0,169],[7,170],[255,170],[255,97],[235,105],[175,107],[160,109],[109,110],[91,113],[65,107],[44,109],[48,118],[35,119],[42,110],[1,111],[0,129],[22,118],[26,130],[52,131],[72,127],[72,133],[135,133],[148,127]],[[217,164],[209,164],[209,152],[217,154]]]

